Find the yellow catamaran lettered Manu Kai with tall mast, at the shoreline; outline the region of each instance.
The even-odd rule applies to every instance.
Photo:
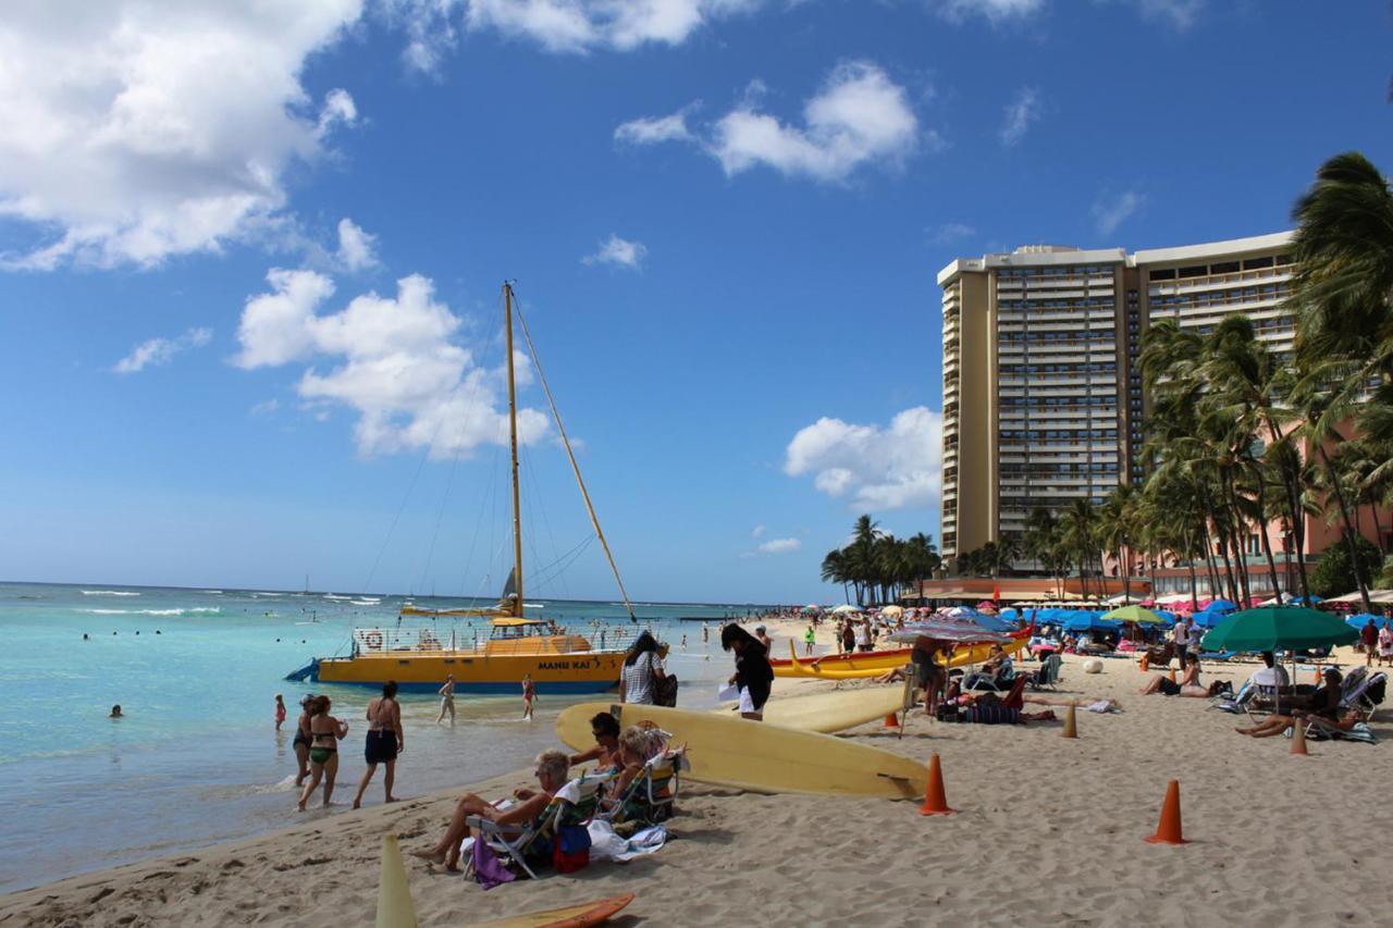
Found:
[[[290,674],[288,679],[309,679],[318,683],[348,683],[382,686],[396,680],[405,693],[435,693],[447,674],[454,674],[457,693],[517,693],[524,676],[531,676],[538,693],[602,693],[618,681],[620,665],[624,660],[621,649],[596,649],[584,635],[568,634],[564,627],[546,619],[528,619],[522,614],[522,518],[518,506],[518,424],[517,385],[513,373],[513,316],[514,297],[511,284],[503,284],[504,332],[507,334],[508,369],[508,443],[513,451],[513,571],[496,606],[485,609],[422,609],[403,606],[403,616],[475,616],[485,617],[490,624],[486,641],[475,644],[457,642],[456,634],[449,641],[437,638],[433,627],[422,628],[355,628],[352,652],[343,658],[319,658],[306,667]],[[610,569],[618,584],[620,595],[628,616],[634,609],[620,580],[614,556],[610,553],[605,532],[600,531],[595,507],[581,478],[579,465],[571,450],[566,426],[556,410],[552,390],[546,385],[542,365],[536,359],[532,337],[527,330],[527,319],[518,314],[522,334],[532,354],[538,380],[546,392],[552,417],[561,435],[566,453],[571,461],[575,481],[579,484],[591,525],[609,557]],[[462,645],[462,647],[457,647]]]

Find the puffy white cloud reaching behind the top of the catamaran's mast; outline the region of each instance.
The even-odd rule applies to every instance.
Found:
[[[507,442],[504,371],[483,368],[460,344],[461,322],[435,297],[430,280],[397,281],[394,298],[368,293],[337,312],[320,314],[333,281],[312,270],[267,273],[272,293],[247,301],[233,359],[242,368],[323,361],[308,366],[295,386],[316,417],[332,407],[358,414],[362,454],[429,449],[435,457]],[[521,354],[518,383],[531,383]],[[336,366],[334,366],[336,365]],[[546,438],[546,417],[518,410],[518,439]]]

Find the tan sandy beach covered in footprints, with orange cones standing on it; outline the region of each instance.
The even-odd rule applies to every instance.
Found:
[[[1212,676],[1241,681],[1254,669],[1216,665]],[[1234,734],[1240,719],[1205,699],[1139,697],[1144,680],[1130,660],[1085,676],[1068,658],[1063,695],[1124,709],[1080,712],[1078,740],[1061,738],[1057,722],[954,726],[919,715],[903,737],[878,723],[846,736],[922,761],[936,751],[953,817],[925,818],[903,801],[688,784],[669,844],[631,864],[485,892],[408,858],[418,915],[458,925],[635,892],[620,924],[1386,924],[1386,745],[1312,743],[1311,757],[1291,757],[1286,738]],[[776,694],[832,686],[790,683]],[[1380,716],[1375,732],[1393,736]],[[1172,778],[1191,843],[1152,846],[1142,839]],[[0,924],[371,924],[383,833],[421,847],[464,789],[503,796],[527,779],[520,771],[390,807],[315,812],[272,835],[13,893]]]

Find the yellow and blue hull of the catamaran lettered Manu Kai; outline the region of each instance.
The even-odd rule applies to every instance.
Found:
[[[401,651],[325,658],[312,679],[366,687],[396,680],[401,693],[435,693],[453,673],[457,694],[517,695],[522,677],[531,674],[539,694],[579,694],[616,688],[623,663],[623,651],[534,655]]]

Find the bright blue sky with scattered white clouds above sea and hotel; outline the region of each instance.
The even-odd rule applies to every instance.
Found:
[[[631,595],[830,599],[858,513],[937,535],[943,265],[1387,167],[1386,4],[1332,8],[21,3],[0,575],[492,592],[515,279]],[[521,401],[535,592],[613,598]]]

